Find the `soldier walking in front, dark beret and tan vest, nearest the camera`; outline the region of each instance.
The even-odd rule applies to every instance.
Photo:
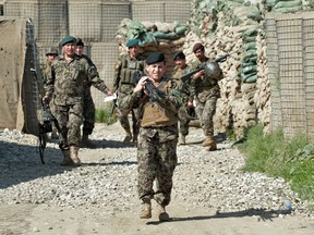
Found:
[[[143,76],[120,106],[124,110],[135,107],[140,111],[137,189],[143,202],[140,218],[152,218],[150,200],[154,198],[158,203],[159,220],[167,221],[169,215],[166,206],[170,202],[172,175],[177,165],[178,111],[182,98],[177,83],[164,76],[167,66],[162,53],[149,54],[146,63],[149,76]],[[161,98],[153,100],[147,96],[145,86],[148,79],[161,90]],[[153,189],[155,180],[156,191]]]

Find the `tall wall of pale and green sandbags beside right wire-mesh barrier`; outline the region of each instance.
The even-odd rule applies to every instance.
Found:
[[[276,116],[278,111],[270,109],[268,73],[273,72],[267,66],[265,14],[282,12],[281,7],[290,8],[294,3],[297,7],[287,12],[306,10],[306,1],[299,4],[299,1],[274,0],[271,5],[270,0],[228,0],[217,1],[214,9],[202,4],[206,0],[194,2],[197,2],[194,4],[197,9],[192,10],[192,15],[203,12],[203,21],[197,25],[194,18],[191,20],[195,28],[191,28],[184,45],[184,52],[190,53],[189,62],[195,59],[191,48],[197,41],[206,46],[206,53],[212,59],[232,53],[220,64],[225,78],[219,82],[221,98],[215,115],[216,132],[232,127],[240,138],[245,128],[256,123],[264,126],[264,132],[269,132],[274,126],[270,116]]]

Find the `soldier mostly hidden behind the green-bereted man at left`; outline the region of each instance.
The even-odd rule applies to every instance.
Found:
[[[76,54],[86,59],[90,66],[96,67],[93,61],[83,53],[84,51],[84,42],[81,38],[76,38]],[[90,94],[92,83],[88,82],[85,84],[84,88],[84,107],[83,107],[83,136],[81,146],[82,147],[94,147],[93,144],[89,141],[88,136],[93,133],[95,127],[95,103],[93,101],[93,97]]]

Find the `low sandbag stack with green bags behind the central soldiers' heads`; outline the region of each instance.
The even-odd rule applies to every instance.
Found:
[[[186,30],[188,25],[178,22],[137,22],[124,18],[116,39],[119,41],[122,54],[126,53],[125,44],[132,38],[141,40],[140,46],[144,57],[155,51],[162,52],[167,62],[167,75],[170,75],[174,67],[173,54],[176,51],[183,50]]]

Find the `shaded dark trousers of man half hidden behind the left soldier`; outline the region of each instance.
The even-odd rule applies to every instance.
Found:
[[[86,88],[89,91],[84,94],[84,104],[83,104],[83,133],[90,135],[95,127],[95,104],[90,94],[90,87]]]

